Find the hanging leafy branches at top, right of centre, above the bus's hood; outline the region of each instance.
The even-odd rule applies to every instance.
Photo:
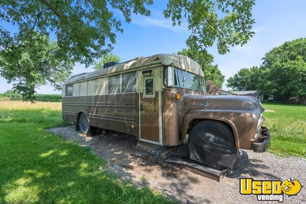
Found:
[[[253,36],[253,5],[253,0],[169,0],[164,16],[171,18],[173,26],[187,17],[188,47],[202,51],[216,42],[219,54],[225,54],[229,46],[246,44]]]

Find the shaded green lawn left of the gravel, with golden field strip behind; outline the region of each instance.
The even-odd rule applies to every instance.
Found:
[[[0,101],[0,203],[169,203],[122,183],[90,148],[44,131],[63,126],[61,103]]]

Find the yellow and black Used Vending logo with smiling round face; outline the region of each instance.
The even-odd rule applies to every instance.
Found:
[[[288,177],[281,180],[253,180],[252,178],[240,178],[239,192],[241,195],[256,195],[258,201],[284,201],[284,194],[289,197],[297,194],[304,188],[301,183]]]

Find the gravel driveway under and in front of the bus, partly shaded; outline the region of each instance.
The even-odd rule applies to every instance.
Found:
[[[89,146],[94,154],[108,162],[109,171],[122,180],[132,180],[136,185],[148,186],[184,203],[253,203],[254,195],[239,194],[239,177],[256,180],[285,180],[294,176],[306,186],[306,160],[301,158],[278,158],[268,152],[254,153],[240,150],[238,171],[229,172],[216,182],[187,170],[167,164],[146,152],[132,148],[137,143],[134,136],[111,132],[94,137],[81,137],[75,127],[49,129],[68,140],[78,140],[80,145]],[[184,155],[186,146],[180,145],[171,154]],[[306,188],[297,196],[284,196],[284,203],[305,203]],[[264,202],[263,202],[264,203]]]

